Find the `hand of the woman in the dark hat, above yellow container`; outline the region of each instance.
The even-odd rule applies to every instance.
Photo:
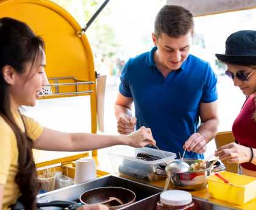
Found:
[[[220,147],[215,151],[215,156],[220,160],[227,159],[227,163],[247,163],[252,158],[252,151],[249,147],[231,143]]]

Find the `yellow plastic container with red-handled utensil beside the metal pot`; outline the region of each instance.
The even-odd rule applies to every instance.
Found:
[[[236,205],[243,205],[256,196],[256,178],[238,175],[230,172],[219,172],[230,183],[224,183],[216,175],[207,177],[210,197],[228,201]]]

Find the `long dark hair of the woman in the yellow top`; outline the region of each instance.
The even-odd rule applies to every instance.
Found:
[[[9,89],[2,68],[9,65],[18,74],[24,74],[28,62],[32,62],[33,67],[43,57],[40,46],[44,49],[43,40],[36,37],[27,24],[12,18],[0,19],[0,115],[16,136],[19,156],[15,181],[20,187],[21,201],[29,210],[36,209],[35,200],[38,194],[37,170],[32,154],[34,144],[26,131],[23,133],[20,130],[13,118]]]

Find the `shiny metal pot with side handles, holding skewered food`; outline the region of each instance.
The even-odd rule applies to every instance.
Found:
[[[180,159],[176,159],[178,161]],[[189,165],[194,163],[195,159],[184,158],[183,161]],[[207,186],[207,178],[211,173],[225,170],[224,165],[210,168],[212,163],[206,161],[207,168],[199,171],[191,171],[187,173],[173,173],[171,174],[170,184],[174,189],[182,189],[185,191],[201,191]],[[163,168],[158,166],[154,167],[154,172],[160,175],[167,175],[167,172]]]

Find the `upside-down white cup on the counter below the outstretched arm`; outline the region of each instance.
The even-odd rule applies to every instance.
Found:
[[[84,183],[85,181],[97,178],[96,163],[94,159],[77,159],[74,183]]]

